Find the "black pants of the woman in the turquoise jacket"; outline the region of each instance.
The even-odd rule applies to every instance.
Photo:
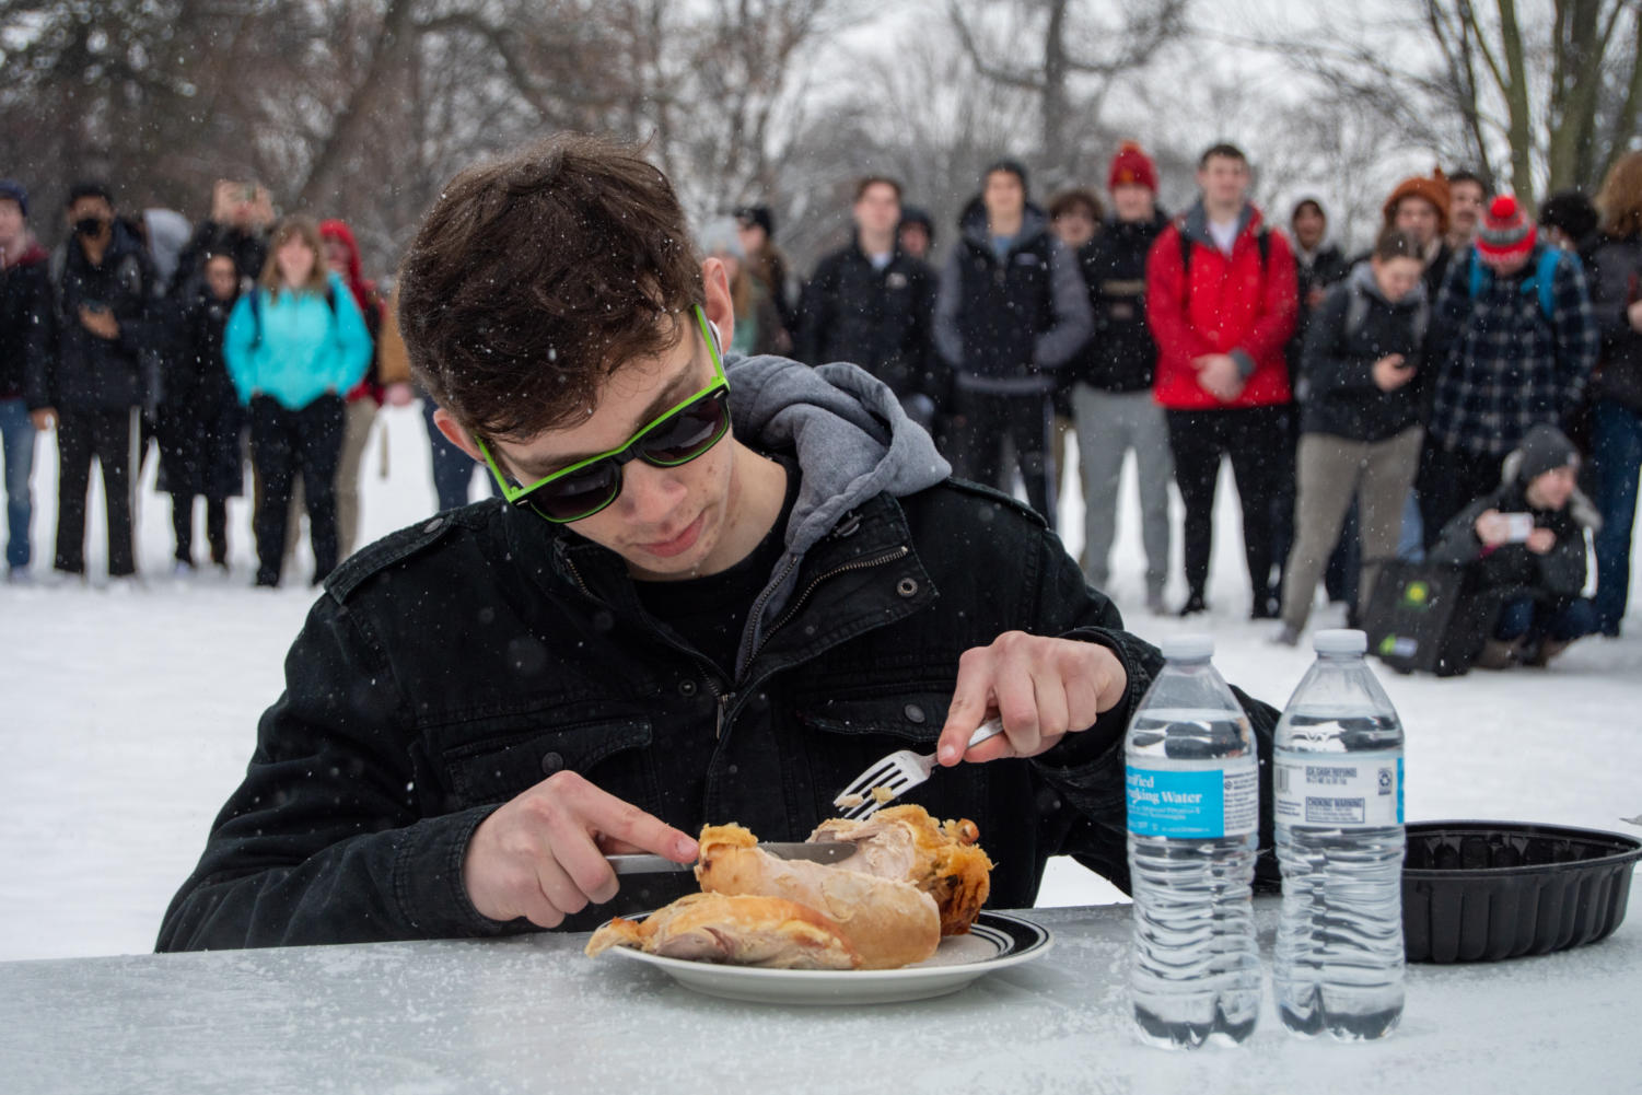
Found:
[[[256,584],[277,586],[286,553],[291,484],[302,473],[314,581],[337,566],[337,466],[342,463],[342,396],[320,396],[300,410],[268,396],[251,399],[251,461],[263,496],[251,524],[256,530]]]

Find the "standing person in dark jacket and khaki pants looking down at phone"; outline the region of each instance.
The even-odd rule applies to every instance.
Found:
[[[1420,241],[1387,228],[1369,259],[1323,299],[1307,328],[1281,644],[1292,647],[1305,629],[1317,580],[1353,497],[1363,538],[1358,616],[1368,607],[1381,563],[1396,553],[1402,499],[1414,484],[1425,435],[1414,384],[1430,317],[1424,269]]]

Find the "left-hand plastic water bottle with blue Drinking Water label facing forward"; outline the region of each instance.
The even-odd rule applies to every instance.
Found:
[[[1130,722],[1128,860],[1135,896],[1130,998],[1153,1046],[1238,1044],[1259,1018],[1250,885],[1259,758],[1248,716],[1210,663],[1213,640],[1167,658]]]

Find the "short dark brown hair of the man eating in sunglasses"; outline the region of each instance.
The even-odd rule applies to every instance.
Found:
[[[673,186],[640,148],[558,133],[468,167],[399,268],[410,368],[461,425],[525,440],[585,415],[704,300]]]

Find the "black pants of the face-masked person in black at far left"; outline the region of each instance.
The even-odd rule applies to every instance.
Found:
[[[102,466],[108,511],[108,575],[136,571],[131,552],[131,412],[61,410],[57,415],[57,570],[85,573],[85,491],[92,456]]]

